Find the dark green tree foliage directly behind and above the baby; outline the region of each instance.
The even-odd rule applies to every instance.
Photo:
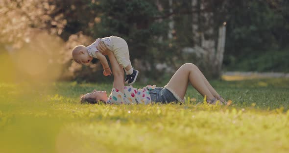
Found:
[[[95,4],[101,15],[100,21],[91,28],[93,37],[109,35],[119,36],[126,40],[129,46],[130,60],[142,59],[150,64],[160,58],[155,54],[166,51],[164,45],[156,42],[160,35],[167,34],[167,23],[156,22],[155,16],[160,12],[154,2],[147,0],[100,0]],[[154,66],[152,66],[154,69]],[[142,71],[141,75],[149,76],[154,71]]]

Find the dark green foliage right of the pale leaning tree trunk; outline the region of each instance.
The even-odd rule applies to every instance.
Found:
[[[281,56],[288,57],[285,48],[289,39],[289,9],[285,8],[289,3],[243,0],[232,6],[234,9],[228,12],[224,65],[237,65],[235,70],[282,71],[278,67],[288,63]]]

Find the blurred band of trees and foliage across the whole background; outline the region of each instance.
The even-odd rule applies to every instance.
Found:
[[[269,55],[277,51],[284,51],[280,55],[288,56],[285,51],[289,40],[288,0],[195,1],[197,5],[193,7],[192,0],[172,0],[171,4],[169,0],[4,0],[0,3],[0,52],[17,52],[16,49],[23,48],[24,44],[35,46],[31,38],[36,32],[32,31],[56,34],[64,40],[65,46],[65,49],[59,49],[63,59],[57,60],[64,67],[61,78],[95,81],[91,76],[102,76],[101,70],[96,73],[101,67],[93,65],[98,60],[89,65],[93,68],[77,67],[73,65],[70,51],[75,45],[89,45],[96,38],[115,35],[127,41],[131,61],[142,60],[139,65],[147,68],[140,77],[158,79],[168,75],[156,70],[158,63],[175,69],[184,62],[192,62],[205,74],[210,74],[214,70],[215,63],[211,64],[214,59],[206,60],[206,54],[204,57],[196,57],[193,53],[187,56],[183,49],[200,46],[200,38],[195,38],[202,33],[207,40],[217,44],[218,27],[226,22],[223,62],[226,68],[282,71],[280,65],[286,63],[284,60],[270,60],[269,56],[255,58],[264,52]],[[193,23],[196,18],[197,23]],[[169,29],[169,23],[173,29]],[[198,26],[194,32],[193,25]],[[169,32],[172,38],[168,38]],[[45,39],[39,41],[43,43],[37,44],[47,44]],[[39,51],[55,50],[46,48]],[[214,51],[214,48],[205,45],[206,51]],[[248,58],[253,60],[247,62]],[[271,64],[263,64],[267,60]]]

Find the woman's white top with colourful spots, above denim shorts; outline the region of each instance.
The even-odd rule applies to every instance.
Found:
[[[124,86],[123,93],[118,89],[113,88],[107,103],[110,104],[133,104],[133,103],[151,103],[149,90],[155,89],[156,86],[147,85],[142,89],[134,88],[133,86]]]

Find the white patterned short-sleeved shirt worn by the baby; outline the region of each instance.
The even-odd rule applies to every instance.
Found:
[[[89,55],[97,58],[96,51],[98,51],[98,50],[96,49],[96,47],[100,41],[102,41],[109,50],[113,51],[113,43],[112,43],[111,37],[113,37],[113,36],[104,37],[104,38],[97,38],[94,43],[87,46],[86,49],[87,49]]]

